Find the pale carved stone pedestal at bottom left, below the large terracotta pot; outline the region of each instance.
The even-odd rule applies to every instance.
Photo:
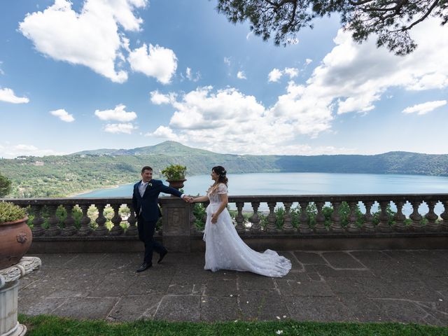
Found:
[[[22,336],[27,327],[18,323],[19,279],[41,266],[41,259],[23,257],[18,264],[0,269],[0,336]]]

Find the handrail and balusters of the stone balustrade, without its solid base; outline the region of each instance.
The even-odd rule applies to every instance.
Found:
[[[129,197],[8,201],[29,207],[34,237],[104,239],[138,235]],[[159,233],[170,232],[170,228],[176,231],[179,221],[190,221],[183,227],[188,225],[190,235],[201,235],[205,204],[200,209],[200,205],[186,204],[176,197],[161,197],[160,204],[167,205],[169,211],[183,209],[188,216],[164,216]],[[241,235],[448,232],[448,194],[230,196],[229,204]]]

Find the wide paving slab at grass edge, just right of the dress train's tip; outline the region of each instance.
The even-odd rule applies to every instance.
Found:
[[[356,321],[351,309],[337,297],[289,296],[284,302],[291,318],[297,321]]]

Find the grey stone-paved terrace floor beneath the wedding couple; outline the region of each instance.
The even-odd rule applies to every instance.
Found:
[[[108,321],[448,325],[448,250],[280,254],[293,262],[281,279],[204,271],[204,253],[169,253],[140,274],[141,253],[36,255],[42,267],[21,280],[19,312]]]

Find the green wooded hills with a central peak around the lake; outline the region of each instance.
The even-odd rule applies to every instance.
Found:
[[[448,176],[448,155],[389,152],[379,155],[231,155],[190,148],[174,141],[134,149],[99,149],[70,155],[1,159],[0,173],[13,181],[13,197],[57,197],[139,179],[144,165],[170,164],[188,175],[223,165],[230,174],[325,172]]]

